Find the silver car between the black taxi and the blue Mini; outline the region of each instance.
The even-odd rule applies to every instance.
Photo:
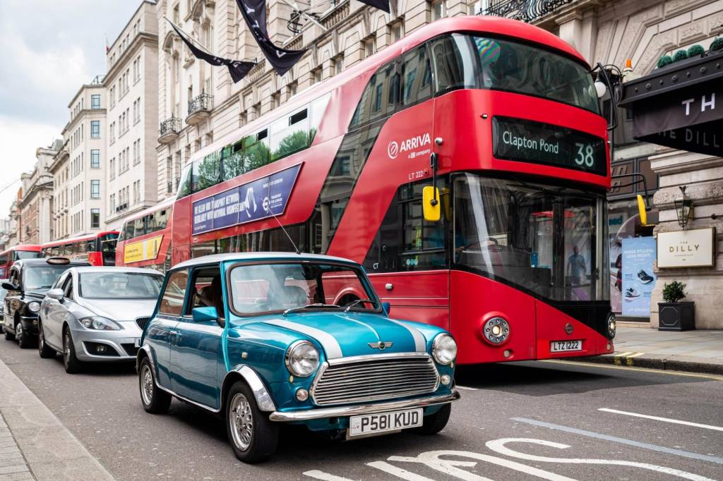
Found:
[[[134,267],[73,267],[56,280],[40,306],[38,352],[63,355],[67,373],[85,362],[134,361],[163,274]]]

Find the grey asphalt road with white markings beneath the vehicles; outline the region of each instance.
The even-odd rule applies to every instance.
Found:
[[[469,367],[458,371],[462,399],[437,436],[339,442],[287,428],[275,458],[249,466],[213,415],[176,401],[168,415],[147,414],[132,367],[71,376],[59,358],[5,341],[0,359],[118,480],[723,479],[716,376],[573,363]]]

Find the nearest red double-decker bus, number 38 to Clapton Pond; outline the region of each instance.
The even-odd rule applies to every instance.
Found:
[[[173,262],[293,250],[281,223],[364,264],[392,316],[449,329],[459,363],[599,355],[609,185],[583,57],[522,22],[451,18],[197,152]]]

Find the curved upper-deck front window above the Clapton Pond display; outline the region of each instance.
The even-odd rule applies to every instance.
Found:
[[[453,34],[433,40],[437,93],[460,88],[505,90],[600,113],[593,79],[583,64],[501,38]]]

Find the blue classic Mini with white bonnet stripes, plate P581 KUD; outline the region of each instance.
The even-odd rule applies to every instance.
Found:
[[[343,299],[344,306],[339,306]],[[171,397],[226,417],[244,462],[273,454],[279,423],[374,436],[445,427],[457,346],[443,329],[396,321],[353,261],[218,254],[166,274],[137,357],[147,412]]]

